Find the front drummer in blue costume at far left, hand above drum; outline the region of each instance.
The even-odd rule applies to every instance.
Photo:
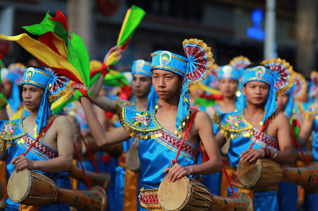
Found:
[[[7,150],[7,179],[13,171],[24,168],[36,170],[50,177],[59,187],[70,188],[70,178],[66,171],[72,167],[74,131],[70,120],[65,116],[51,113],[51,103],[57,99],[69,80],[41,68],[29,67],[25,70],[22,81],[22,99],[30,110],[30,115],[12,121],[1,122],[0,143]],[[22,155],[43,128],[52,125],[40,137],[26,156]],[[41,134],[40,134],[41,135]],[[18,190],[16,190],[18,191]],[[6,200],[6,210],[23,209],[39,211],[69,210],[59,203],[40,207],[30,207]]]

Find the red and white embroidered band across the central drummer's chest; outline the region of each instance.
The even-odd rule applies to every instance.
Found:
[[[178,139],[169,131],[162,128],[161,130],[154,131],[151,133],[161,144],[172,149],[173,151],[177,152],[179,150],[182,139]],[[183,143],[180,152],[185,155],[188,155],[193,160],[196,160],[199,156],[199,148],[186,141]]]

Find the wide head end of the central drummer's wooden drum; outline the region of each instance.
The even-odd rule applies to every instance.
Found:
[[[158,201],[165,211],[206,211],[213,204],[209,189],[186,176],[173,183],[165,176],[159,186]]]

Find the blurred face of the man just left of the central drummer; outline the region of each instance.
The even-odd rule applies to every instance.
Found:
[[[135,73],[133,75],[133,81],[131,82],[131,87],[134,94],[138,98],[148,96],[150,88],[152,86],[152,80],[143,74]]]

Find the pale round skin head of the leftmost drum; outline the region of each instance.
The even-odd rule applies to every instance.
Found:
[[[28,169],[13,170],[7,184],[8,197],[12,202],[23,202],[31,194],[32,185],[33,178]]]

